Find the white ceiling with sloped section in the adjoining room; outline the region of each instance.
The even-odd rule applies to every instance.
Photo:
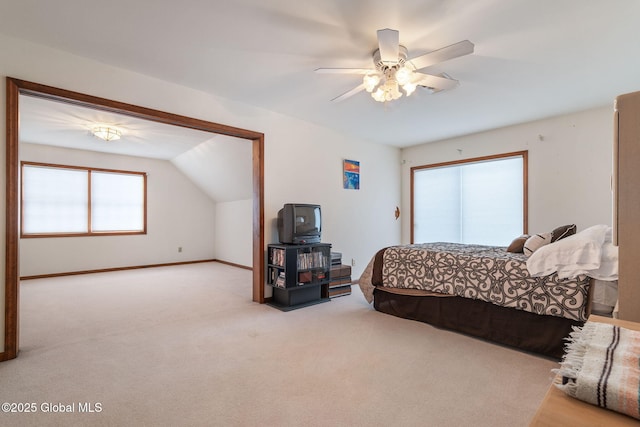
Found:
[[[20,99],[20,140],[173,163],[214,202],[252,197],[251,142],[30,96]],[[113,125],[122,138],[104,143],[91,134]]]

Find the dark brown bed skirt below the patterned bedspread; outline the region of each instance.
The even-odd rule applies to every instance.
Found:
[[[565,338],[584,322],[541,316],[462,297],[399,295],[376,288],[376,310],[560,360]]]

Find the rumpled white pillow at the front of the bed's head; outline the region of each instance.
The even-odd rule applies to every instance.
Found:
[[[529,274],[540,277],[557,271],[563,278],[569,278],[598,269],[610,229],[608,225],[594,225],[538,249],[527,259]]]

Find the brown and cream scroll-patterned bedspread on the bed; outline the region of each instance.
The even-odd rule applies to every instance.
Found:
[[[382,251],[363,273],[373,286],[457,295],[579,321],[587,317],[587,276],[531,277],[526,257],[503,247],[424,243]]]

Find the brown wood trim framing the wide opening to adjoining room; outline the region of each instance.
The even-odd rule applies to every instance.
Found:
[[[253,162],[253,286],[252,300],[264,297],[264,134],[206,120],[167,113],[133,104],[100,98],[39,83],[6,78],[6,244],[5,244],[5,336],[0,361],[13,359],[19,343],[19,152],[18,109],[20,95],[30,95],[93,109],[125,114],[190,129],[213,132],[252,142]]]

